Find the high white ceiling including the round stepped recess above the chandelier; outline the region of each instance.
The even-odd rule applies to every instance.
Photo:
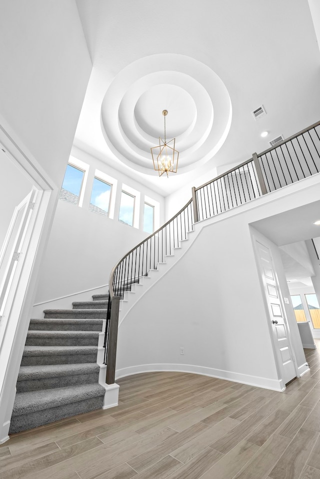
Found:
[[[320,117],[307,0],[76,3],[93,69],[74,144],[164,196]],[[260,104],[267,114],[256,121]],[[168,179],[149,153],[163,135],[163,109],[179,151]]]

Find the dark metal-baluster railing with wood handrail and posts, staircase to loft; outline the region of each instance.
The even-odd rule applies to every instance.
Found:
[[[192,198],[163,226],[125,254],[111,271],[105,328],[107,384],[114,382],[119,301],[150,269],[173,253],[193,223],[239,206],[320,171],[320,121],[252,154],[235,168],[192,188]]]

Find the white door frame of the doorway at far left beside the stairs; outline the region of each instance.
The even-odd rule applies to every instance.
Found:
[[[5,125],[5,127],[3,126]],[[36,191],[34,211],[23,239],[24,251],[18,261],[7,295],[5,329],[0,347],[0,443],[7,440],[15,385],[35,294],[40,256],[53,218],[57,188],[21,141],[0,117],[0,148],[33,184]],[[18,145],[19,144],[19,145]],[[52,194],[52,193],[56,194]]]

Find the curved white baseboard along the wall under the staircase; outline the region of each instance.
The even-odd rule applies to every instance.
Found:
[[[271,379],[267,377],[251,376],[238,372],[224,371],[222,369],[214,369],[211,367],[195,366],[192,364],[139,364],[137,366],[128,366],[115,371],[116,379],[131,374],[139,374],[141,372],[152,371],[178,371],[190,372],[193,374],[202,374],[205,376],[217,377],[232,382],[240,382],[250,386],[263,387],[264,389],[272,389],[274,391],[283,391],[283,382],[280,379]]]

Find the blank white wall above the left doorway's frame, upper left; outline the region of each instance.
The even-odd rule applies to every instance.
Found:
[[[91,71],[74,0],[2,0],[0,111],[61,184]]]

